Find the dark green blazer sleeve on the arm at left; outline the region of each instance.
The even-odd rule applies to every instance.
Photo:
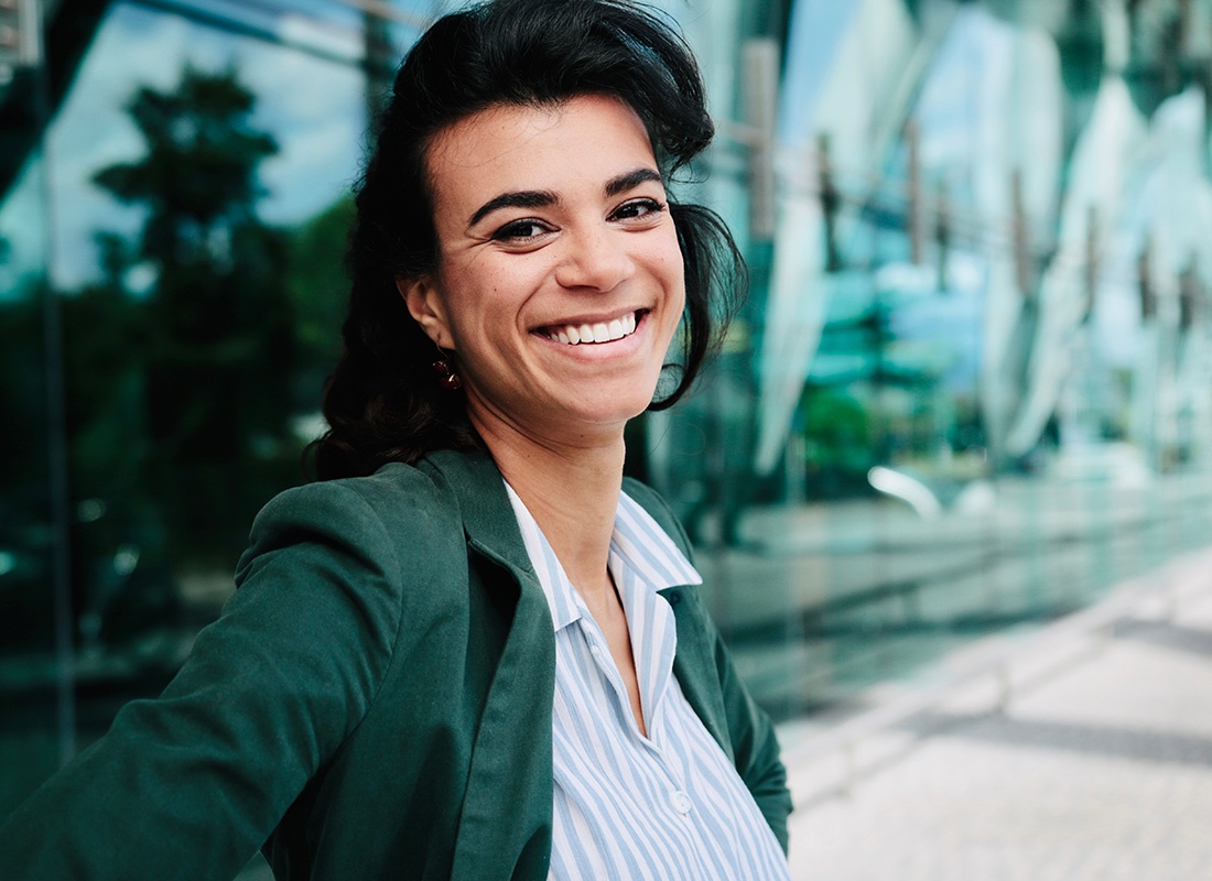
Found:
[[[373,699],[401,619],[395,553],[349,487],[274,499],[165,692],[0,826],[0,875],[233,877]]]

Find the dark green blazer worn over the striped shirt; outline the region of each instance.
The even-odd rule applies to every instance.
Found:
[[[0,826],[0,877],[227,881],[258,847],[279,879],[547,877],[555,639],[491,459],[285,492],[236,584],[164,694]],[[662,593],[674,673],[785,849],[770,720],[697,589]]]

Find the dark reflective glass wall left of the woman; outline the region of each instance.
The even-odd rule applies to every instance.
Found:
[[[0,78],[0,813],[164,687],[304,480],[367,108],[431,10],[388,12],[44,2]]]

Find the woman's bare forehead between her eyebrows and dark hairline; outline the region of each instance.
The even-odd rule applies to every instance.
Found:
[[[621,172],[657,167],[639,115],[622,101],[598,95],[480,110],[439,131],[425,165],[439,212],[474,211],[510,190],[600,188]]]

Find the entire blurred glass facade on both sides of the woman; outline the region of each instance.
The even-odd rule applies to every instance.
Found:
[[[1212,543],[1212,0],[658,5],[751,293],[628,468],[782,731]],[[451,6],[0,0],[0,816],[304,480],[367,118]]]

